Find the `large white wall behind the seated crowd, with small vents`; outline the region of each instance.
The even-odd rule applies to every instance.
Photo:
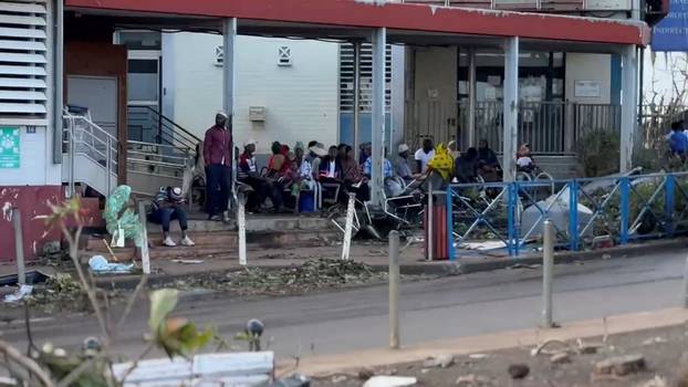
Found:
[[[215,50],[222,38],[199,33],[173,35],[174,119],[202,137],[222,106],[222,70],[215,64]],[[278,66],[278,48],[291,49],[292,65]],[[166,51],[167,52],[167,51]],[[163,53],[164,61],[166,52]],[[295,142],[317,139],[336,144],[338,138],[337,44],[238,36],[234,54],[234,137],[259,142],[268,153],[271,142],[293,147]],[[163,75],[166,76],[165,74]],[[249,121],[250,106],[264,106],[263,123]]]

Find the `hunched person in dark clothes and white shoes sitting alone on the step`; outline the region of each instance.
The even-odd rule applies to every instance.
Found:
[[[177,245],[169,237],[169,222],[175,219],[179,221],[179,228],[181,229],[181,245],[190,247],[195,244],[186,232],[188,224],[186,210],[184,209],[185,201],[181,197],[181,188],[161,187],[150,206],[148,221],[163,227],[163,244],[168,248]]]

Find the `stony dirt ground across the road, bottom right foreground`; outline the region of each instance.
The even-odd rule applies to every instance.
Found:
[[[602,337],[583,339],[584,344],[603,344]],[[575,342],[569,343],[578,347]],[[553,352],[564,348],[552,343],[545,347]],[[333,375],[314,379],[314,386],[350,387],[362,386],[371,373],[375,375],[413,376],[416,386],[463,386],[463,387],[582,387],[582,386],[629,386],[668,387],[688,386],[679,384],[688,370],[688,326],[638,331],[609,336],[595,354],[571,354],[570,362],[554,364],[551,355],[531,356],[533,347],[505,349],[487,354],[455,357],[455,364],[442,368],[428,364],[398,364],[377,369],[362,369],[357,374]],[[643,355],[646,369],[626,376],[596,376],[593,372],[597,362],[615,356]],[[523,379],[512,379],[509,367],[524,364],[530,373]],[[457,383],[461,378],[462,383]],[[688,377],[686,378],[688,380]]]

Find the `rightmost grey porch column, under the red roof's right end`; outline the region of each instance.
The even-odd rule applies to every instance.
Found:
[[[636,133],[638,102],[638,62],[635,45],[624,46],[622,53],[622,129],[621,172],[633,166],[633,138]]]

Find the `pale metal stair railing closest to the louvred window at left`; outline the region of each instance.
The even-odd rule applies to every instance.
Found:
[[[102,195],[112,191],[117,178],[118,140],[85,116],[63,115],[62,154],[69,156],[69,192],[74,195],[75,182],[86,181]],[[76,165],[77,158],[91,165]],[[95,169],[95,170],[94,170]]]

